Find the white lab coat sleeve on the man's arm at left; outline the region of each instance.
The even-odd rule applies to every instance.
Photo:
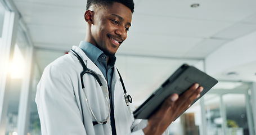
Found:
[[[54,64],[43,72],[35,98],[42,134],[86,134],[71,72]]]

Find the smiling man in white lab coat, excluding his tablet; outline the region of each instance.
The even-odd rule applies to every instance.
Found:
[[[200,96],[203,88],[195,84],[181,97],[168,97],[146,123],[134,120],[114,66],[133,9],[132,0],[87,1],[84,42],[48,65],[38,84],[35,101],[42,134],[167,134],[169,124]],[[99,80],[92,74],[80,78],[83,67],[75,53]]]

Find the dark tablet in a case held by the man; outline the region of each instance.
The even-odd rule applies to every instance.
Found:
[[[210,77],[203,71],[196,69],[194,66],[183,64],[179,67],[152,95],[147,98],[143,104],[133,112],[136,119],[148,119],[156,110],[159,109],[165,98],[169,97],[173,93],[182,95],[193,84],[198,83],[204,90],[200,93],[201,98],[206,92],[208,92],[218,80]],[[192,102],[194,104],[197,98]],[[191,105],[192,105],[191,104]],[[176,118],[177,119],[177,118]]]

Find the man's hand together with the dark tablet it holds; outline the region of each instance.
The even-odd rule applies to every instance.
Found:
[[[133,112],[134,118],[148,119],[143,129],[146,135],[162,134],[217,83],[204,72],[183,64]]]

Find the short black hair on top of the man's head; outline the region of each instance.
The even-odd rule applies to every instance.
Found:
[[[127,6],[128,8],[130,8],[132,13],[134,12],[133,0],[87,0],[86,10],[88,10],[92,4],[96,4],[99,6],[112,6],[114,2],[119,2],[121,4],[124,4],[124,6]]]

